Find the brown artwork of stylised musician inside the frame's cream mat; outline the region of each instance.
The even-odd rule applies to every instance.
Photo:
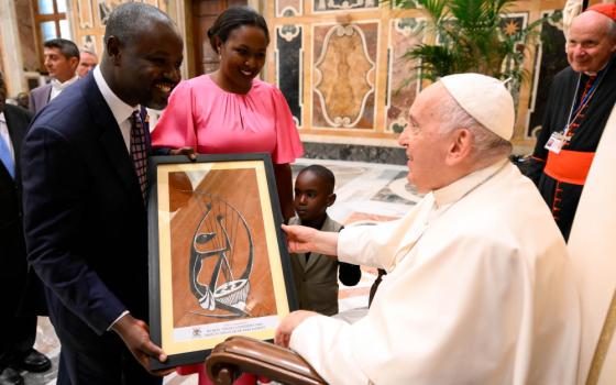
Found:
[[[276,314],[254,173],[169,174],[175,328]]]

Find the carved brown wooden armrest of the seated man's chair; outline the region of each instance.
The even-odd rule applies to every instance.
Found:
[[[216,345],[206,360],[206,369],[208,376],[220,385],[230,385],[244,372],[283,384],[327,384],[290,349],[241,336],[230,337]]]

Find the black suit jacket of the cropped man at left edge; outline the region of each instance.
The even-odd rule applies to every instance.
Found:
[[[32,120],[32,113],[20,107],[6,105],[4,119],[15,153],[15,179],[11,177],[4,168],[4,164],[0,162],[0,253],[2,254],[0,260],[0,292],[2,298],[10,301],[10,304],[3,301],[2,307],[14,315],[29,285],[22,227],[19,158],[21,144]],[[34,305],[38,305],[28,302],[29,310],[33,309]]]

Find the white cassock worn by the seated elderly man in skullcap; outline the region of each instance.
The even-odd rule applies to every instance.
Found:
[[[404,218],[340,233],[340,261],[386,268],[367,316],[316,316],[290,348],[331,384],[575,383],[580,304],[564,241],[508,161]]]

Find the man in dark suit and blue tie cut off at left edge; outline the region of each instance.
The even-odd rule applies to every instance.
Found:
[[[28,273],[25,260],[19,163],[21,143],[32,114],[7,105],[6,99],[7,88],[0,72],[0,385],[13,385],[23,384],[19,370],[45,372],[52,363],[33,349],[35,304],[24,304],[28,309],[20,309],[26,288],[32,290],[36,280]]]

